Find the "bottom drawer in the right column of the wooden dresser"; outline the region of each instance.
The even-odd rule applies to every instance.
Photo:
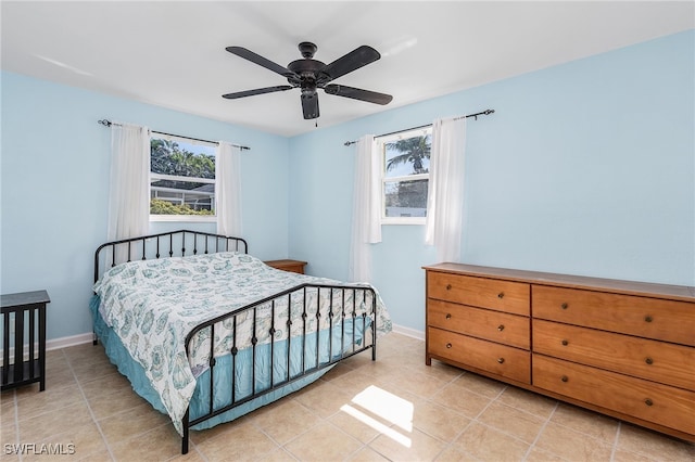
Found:
[[[533,355],[533,385],[695,435],[695,393]]]

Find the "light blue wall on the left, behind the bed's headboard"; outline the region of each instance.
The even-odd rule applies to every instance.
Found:
[[[94,248],[106,239],[111,132],[97,120],[251,147],[242,153],[244,236],[261,258],[288,253],[286,138],[2,73],[2,293],[46,288],[48,337],[91,332]],[[152,231],[214,223],[152,223]]]

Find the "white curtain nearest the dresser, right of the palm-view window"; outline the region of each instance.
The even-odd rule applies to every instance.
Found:
[[[465,161],[466,118],[434,120],[425,242],[438,261],[460,260]]]

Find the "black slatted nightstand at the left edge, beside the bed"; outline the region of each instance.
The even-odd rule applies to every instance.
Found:
[[[0,296],[2,305],[2,386],[14,388],[39,382],[46,389],[46,291]],[[24,333],[28,333],[28,343]],[[37,338],[38,337],[38,338]],[[36,342],[38,341],[38,351]],[[14,361],[10,362],[10,349]]]

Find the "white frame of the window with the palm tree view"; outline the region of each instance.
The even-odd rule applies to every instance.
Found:
[[[420,224],[424,226],[427,220],[427,203],[425,206],[426,216],[425,217],[387,217],[387,183],[399,183],[404,181],[416,181],[416,180],[427,180],[428,191],[429,191],[429,182],[430,182],[430,174],[414,174],[414,175],[404,175],[399,177],[388,177],[387,178],[387,158],[386,158],[386,145],[393,141],[404,140],[408,138],[416,138],[421,136],[429,136],[430,143],[432,137],[432,126],[424,126],[418,128],[412,128],[403,131],[397,131],[394,133],[384,134],[381,137],[376,137],[375,141],[377,142],[377,149],[379,150],[379,155],[381,157],[381,178],[380,178],[380,190],[381,190],[381,224]]]

